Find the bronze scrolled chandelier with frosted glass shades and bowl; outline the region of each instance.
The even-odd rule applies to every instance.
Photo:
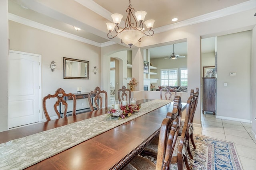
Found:
[[[121,39],[121,43],[125,43],[132,47],[133,44],[135,44],[137,41],[141,42],[141,37],[143,35],[152,36],[154,35],[154,31],[152,30],[152,27],[154,25],[155,20],[146,20],[143,23],[143,20],[147,14],[145,11],[137,11],[134,13],[136,16],[137,21],[139,22],[139,26],[137,24],[137,21],[132,14],[134,12],[134,8],[132,8],[131,1],[129,0],[130,5],[128,6],[126,12],[128,12],[124,28],[120,28],[118,24],[121,22],[123,16],[121,14],[112,14],[111,17],[113,19],[114,23],[106,23],[108,27],[108,38],[112,39],[114,37],[118,37]],[[131,20],[134,20],[132,22]],[[147,31],[144,31],[144,24],[148,28]],[[112,31],[115,30],[116,35],[112,35]]]

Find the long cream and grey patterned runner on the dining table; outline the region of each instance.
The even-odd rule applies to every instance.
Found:
[[[24,169],[92,137],[170,103],[152,100],[126,119],[106,119],[100,115],[0,144],[0,169]]]

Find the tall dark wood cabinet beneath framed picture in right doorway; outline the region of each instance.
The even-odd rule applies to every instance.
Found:
[[[216,78],[203,79],[203,110],[210,111],[213,115],[216,112]]]

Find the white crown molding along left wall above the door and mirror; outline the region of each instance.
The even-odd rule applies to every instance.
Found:
[[[38,23],[38,22],[35,22],[35,21],[32,21],[32,20],[28,20],[26,18],[22,18],[20,16],[16,16],[16,15],[11,14],[11,13],[9,13],[8,18],[11,21],[18,22],[18,23],[21,23],[21,24],[24,24],[24,25],[27,25],[27,26],[30,26],[30,27],[37,28],[37,29],[41,29],[43,31],[47,31],[47,32],[50,32],[50,33],[53,33],[53,34],[56,34],[56,35],[60,35],[62,37],[74,39],[76,41],[80,41],[80,42],[87,43],[87,44],[90,44],[90,45],[94,45],[94,46],[97,46],[97,47],[102,47],[101,43],[97,43],[97,42],[92,41],[90,39],[79,37],[77,35],[67,33],[65,31],[61,31],[59,29],[49,27],[47,25],[43,25],[41,23]]]

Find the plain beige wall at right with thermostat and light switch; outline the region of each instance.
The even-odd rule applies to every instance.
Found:
[[[251,41],[252,31],[217,37],[217,118],[251,121]]]

